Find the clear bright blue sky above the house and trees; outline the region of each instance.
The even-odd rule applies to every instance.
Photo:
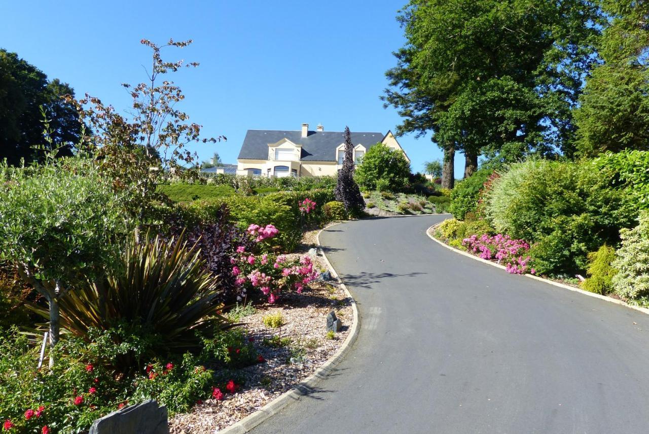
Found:
[[[145,79],[150,62],[141,38],[162,43],[193,39],[163,58],[200,62],[171,75],[186,100],[182,110],[204,136],[227,142],[197,144],[201,159],[217,151],[236,162],[247,129],[386,133],[400,123],[379,96],[391,54],[404,43],[395,17],[406,0],[354,1],[34,1],[3,2],[0,47],[15,51],[50,79],[59,78],[118,110],[130,97],[120,83]],[[421,171],[441,159],[430,136],[398,138]],[[456,177],[463,156],[456,157]]]

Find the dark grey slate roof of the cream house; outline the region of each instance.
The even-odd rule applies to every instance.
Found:
[[[377,144],[386,134],[383,133],[352,133],[354,146],[361,144],[366,149]],[[268,145],[288,138],[296,145],[302,145],[302,161],[336,161],[336,147],[345,142],[342,131],[309,131],[302,138],[302,131],[276,131],[249,129],[243,139],[239,159],[268,159]]]

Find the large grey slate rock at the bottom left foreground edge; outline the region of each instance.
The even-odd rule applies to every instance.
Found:
[[[169,434],[167,407],[154,400],[130,405],[95,420],[90,434]]]

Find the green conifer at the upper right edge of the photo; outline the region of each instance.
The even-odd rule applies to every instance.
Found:
[[[602,7],[609,16],[599,44],[603,63],[593,68],[574,115],[578,151],[587,157],[649,150],[649,3],[604,0]]]

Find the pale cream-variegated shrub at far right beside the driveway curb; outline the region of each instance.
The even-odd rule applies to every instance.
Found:
[[[622,229],[622,246],[616,253],[613,268],[618,273],[613,277],[613,290],[627,300],[649,299],[649,213],[643,212],[640,224],[633,229]]]

